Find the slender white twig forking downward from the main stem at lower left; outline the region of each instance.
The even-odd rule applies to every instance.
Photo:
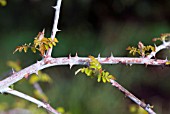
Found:
[[[37,99],[35,99],[35,98],[33,98],[33,97],[30,97],[30,96],[28,96],[28,95],[26,95],[26,94],[24,94],[24,93],[21,93],[21,92],[19,92],[19,91],[13,90],[13,89],[11,89],[11,88],[6,88],[6,89],[5,89],[5,93],[9,93],[9,94],[12,94],[12,95],[21,97],[21,98],[23,98],[23,99],[26,99],[26,100],[28,100],[28,101],[30,101],[30,102],[33,102],[33,103],[37,104],[38,107],[43,107],[43,108],[47,109],[48,111],[50,111],[50,112],[52,112],[52,113],[54,113],[54,114],[60,114],[60,113],[57,112],[55,109],[53,109],[53,108],[50,106],[50,104],[41,102],[41,101],[39,101],[39,100],[37,100]]]

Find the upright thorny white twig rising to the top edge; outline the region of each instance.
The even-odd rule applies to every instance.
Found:
[[[59,14],[60,14],[61,2],[62,2],[62,0],[58,0],[57,5],[53,7],[56,11],[55,11],[53,29],[52,29],[52,32],[51,32],[52,40],[55,38],[56,32],[60,31],[60,30],[58,30],[57,26],[58,26]],[[49,48],[49,50],[46,53],[46,56],[50,57],[51,53],[52,53],[52,48]]]

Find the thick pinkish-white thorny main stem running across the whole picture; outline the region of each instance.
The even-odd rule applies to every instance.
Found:
[[[45,58],[37,63],[22,69],[19,72],[13,73],[8,78],[0,81],[0,92],[1,89],[7,88],[15,82],[18,82],[23,77],[36,74],[39,70],[51,67],[51,66],[59,66],[59,65],[88,65],[88,61],[90,58],[88,57],[60,57],[60,58]],[[132,64],[144,64],[144,65],[157,65],[162,66],[165,65],[167,60],[161,59],[148,59],[148,58],[128,58],[128,57],[106,57],[106,58],[98,58],[98,61],[101,64],[125,64],[125,65],[132,65]]]

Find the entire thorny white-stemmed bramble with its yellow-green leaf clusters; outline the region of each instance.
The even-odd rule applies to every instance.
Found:
[[[59,114],[57,110],[52,108],[48,103],[46,103],[46,97],[41,96],[42,101],[39,101],[33,97],[30,97],[26,94],[23,94],[19,91],[14,90],[10,86],[14,83],[18,82],[22,78],[28,78],[32,74],[39,75],[41,78],[36,78],[36,76],[31,76],[30,83],[36,84],[38,81],[43,81],[43,79],[46,79],[46,81],[50,82],[49,77],[46,74],[43,74],[40,72],[40,70],[51,67],[51,66],[57,66],[57,65],[69,65],[70,68],[73,65],[84,65],[86,67],[80,68],[77,71],[75,71],[75,74],[77,73],[84,73],[88,77],[96,78],[98,82],[104,82],[104,83],[111,83],[112,86],[116,87],[118,90],[124,93],[125,96],[130,98],[132,101],[134,101],[137,105],[142,107],[144,110],[146,110],[149,114],[156,114],[156,112],[153,111],[153,106],[144,103],[137,97],[135,97],[132,93],[130,93],[128,90],[126,90],[123,86],[121,86],[117,81],[116,78],[104,70],[102,68],[102,64],[143,64],[143,65],[164,65],[168,66],[170,64],[170,61],[167,59],[162,60],[159,58],[156,58],[156,54],[163,49],[170,47],[170,41],[169,37],[170,34],[161,34],[160,38],[154,38],[153,41],[161,41],[162,44],[159,46],[155,45],[148,45],[145,46],[142,42],[138,43],[137,47],[129,46],[126,50],[129,51],[132,55],[139,55],[139,57],[114,57],[112,54],[110,57],[100,57],[100,54],[97,58],[93,56],[88,57],[79,57],[77,54],[75,57],[57,57],[53,58],[51,56],[52,49],[54,46],[56,46],[56,43],[58,43],[57,38],[55,38],[56,32],[58,32],[58,20],[59,20],[59,13],[60,13],[60,6],[61,1],[57,1],[57,5],[54,7],[56,10],[55,12],[55,18],[54,18],[54,24],[53,29],[51,32],[51,37],[46,38],[45,37],[45,29],[42,32],[39,32],[37,37],[34,38],[33,43],[24,44],[22,46],[17,46],[17,48],[14,50],[14,53],[19,51],[27,52],[28,49],[31,49],[34,53],[40,52],[40,55],[42,56],[42,60],[37,61],[36,63],[21,69],[18,68],[13,70],[13,74],[7,77],[6,79],[3,79],[0,81],[0,92],[8,93],[12,95],[16,95],[18,97],[21,97],[23,99],[26,99],[28,101],[31,101],[38,105],[38,107],[43,107],[46,110],[54,113]],[[14,67],[13,63],[9,63],[11,67]],[[15,67],[16,68],[16,67]],[[37,89],[38,90],[38,89]]]

